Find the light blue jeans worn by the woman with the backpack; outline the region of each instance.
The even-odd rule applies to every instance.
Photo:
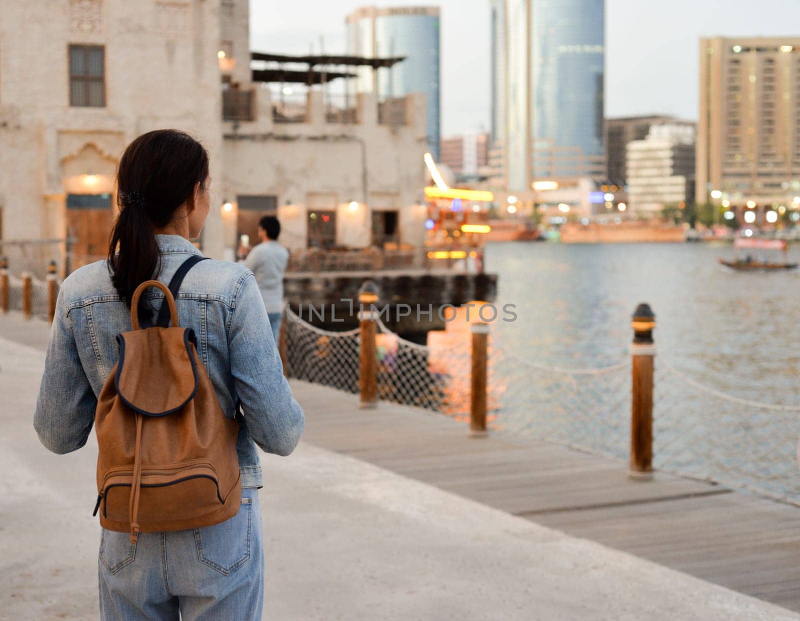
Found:
[[[264,554],[258,489],[242,490],[233,518],[192,531],[102,530],[102,621],[218,621],[262,618]]]

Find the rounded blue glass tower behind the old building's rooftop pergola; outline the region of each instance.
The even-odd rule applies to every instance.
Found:
[[[424,93],[427,99],[428,146],[439,157],[439,9],[438,6],[366,6],[347,16],[350,54],[366,57],[405,56],[391,69],[362,68],[358,89],[381,100]],[[377,83],[376,83],[377,82]]]

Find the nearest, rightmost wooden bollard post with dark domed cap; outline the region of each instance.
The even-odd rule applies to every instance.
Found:
[[[653,371],[655,315],[648,304],[634,311],[632,400],[630,407],[630,479],[653,479]]]

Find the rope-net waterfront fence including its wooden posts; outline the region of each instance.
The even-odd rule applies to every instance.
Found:
[[[54,263],[48,271],[46,280],[16,276],[0,262],[0,311],[52,319],[60,282]],[[286,374],[360,393],[362,407],[377,395],[440,412],[469,422],[473,435],[488,425],[630,459],[637,479],[655,467],[800,505],[800,404],[742,399],[686,375],[657,354],[649,306],[634,315],[630,359],[598,369],[534,362],[498,344],[485,323],[448,326],[421,345],[391,331],[378,313],[359,319],[354,330],[327,331],[287,306]]]

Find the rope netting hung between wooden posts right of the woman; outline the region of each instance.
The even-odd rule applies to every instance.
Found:
[[[468,420],[469,327],[412,343],[378,319],[378,395],[385,401]],[[290,377],[358,391],[358,330],[324,331],[287,311]],[[497,340],[497,339],[494,339]],[[489,422],[618,459],[630,451],[631,364],[570,369],[535,363],[510,348],[488,351]],[[654,360],[654,467],[800,504],[800,405],[727,395]]]

